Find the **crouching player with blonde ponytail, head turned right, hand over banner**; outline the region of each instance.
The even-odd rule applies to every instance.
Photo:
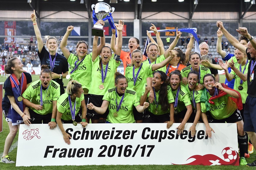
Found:
[[[74,126],[81,124],[82,127],[87,125],[86,118],[86,105],[84,102],[84,91],[82,85],[76,81],[69,81],[67,84],[66,93],[62,94],[57,100],[57,118],[56,122],[63,134],[65,143],[70,144],[69,134],[66,133],[62,126],[63,123],[73,123]],[[78,114],[82,108],[82,119]]]

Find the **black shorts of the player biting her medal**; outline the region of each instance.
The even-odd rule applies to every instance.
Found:
[[[235,123],[243,120],[238,109],[236,109],[232,115],[225,119],[214,119],[209,111],[206,112],[206,116],[209,123]]]

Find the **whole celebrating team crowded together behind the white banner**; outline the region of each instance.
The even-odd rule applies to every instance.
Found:
[[[99,123],[103,120],[105,123],[167,123],[168,129],[173,123],[180,123],[178,134],[183,133],[185,124],[189,122],[193,123],[189,128],[192,137],[196,135],[197,123],[204,123],[206,135],[210,138],[214,130],[209,123],[236,123],[240,164],[247,164],[248,135],[245,131],[255,133],[251,125],[244,125],[243,122],[243,119],[248,121],[249,114],[244,113],[248,96],[247,77],[250,83],[255,82],[253,70],[256,62],[253,56],[248,56],[249,43],[253,38],[240,40],[240,45],[244,46],[238,45],[234,55],[220,50],[223,60],[227,62],[220,61],[217,65],[207,55],[209,47],[205,42],[199,45],[201,53],[191,52],[194,44],[192,35],[185,53],[175,48],[182,34],[178,30],[176,38],[165,50],[152,24],[150,30],[155,32],[157,42],[147,33],[151,43],[146,48],[145,56],[135,37],[129,39],[130,51],[122,51],[124,22],[119,20],[118,24],[115,23],[116,30],[112,29],[111,44],[106,44],[105,37],[101,37],[98,45],[99,37],[94,36],[91,53],[85,41],[77,43],[76,54],[69,52],[66,44],[74,27],[68,26],[60,42],[62,56],[56,53],[58,44],[55,37],[46,36],[48,50],[44,47],[35,11],[30,18],[38,41],[40,80],[32,83],[31,75],[24,72],[18,58],[8,60],[5,72],[11,75],[4,83],[2,107],[10,134],[6,138],[1,162],[14,163],[8,152],[18,124],[29,126],[43,123],[48,124],[50,129],[58,125],[65,142],[70,144],[70,136],[63,123],[85,127],[90,121]],[[104,26],[104,21],[99,20],[96,24]],[[222,22],[218,21],[217,26],[218,51],[222,35],[227,37],[229,33]],[[239,28],[239,31],[241,34],[247,32],[244,28]],[[248,46],[247,43],[242,45],[245,39],[249,42]],[[120,59],[124,65],[124,75],[116,72]],[[225,70],[227,85],[218,82],[215,69]],[[248,70],[250,75],[247,74]],[[65,93],[62,79],[66,77],[72,80],[67,84]]]

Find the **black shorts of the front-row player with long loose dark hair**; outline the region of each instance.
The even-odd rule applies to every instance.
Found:
[[[143,123],[164,123],[166,121],[170,121],[170,114],[165,113],[162,115],[154,115],[151,112],[144,113]]]

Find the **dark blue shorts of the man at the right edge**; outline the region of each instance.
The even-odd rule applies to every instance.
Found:
[[[244,131],[256,132],[256,97],[247,96],[244,109]]]

